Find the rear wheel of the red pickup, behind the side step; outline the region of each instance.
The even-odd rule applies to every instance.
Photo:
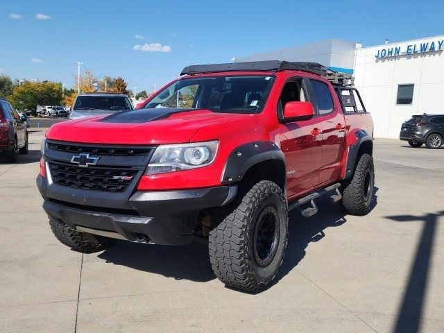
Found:
[[[342,190],[342,205],[345,212],[352,215],[365,215],[370,210],[375,185],[373,157],[364,154],[359,158],[355,173]]]

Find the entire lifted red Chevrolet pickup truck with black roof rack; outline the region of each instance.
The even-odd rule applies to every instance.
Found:
[[[260,291],[282,264],[289,210],[311,216],[327,194],[369,211],[372,153],[350,77],[309,62],[197,65],[140,110],[52,126],[37,186],[74,250],[203,241],[222,282]]]

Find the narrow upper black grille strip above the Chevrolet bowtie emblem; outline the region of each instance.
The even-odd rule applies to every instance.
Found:
[[[55,151],[63,151],[65,153],[89,153],[93,155],[102,156],[146,156],[150,153],[151,147],[103,147],[103,146],[89,146],[82,144],[61,144],[48,142],[48,148]]]

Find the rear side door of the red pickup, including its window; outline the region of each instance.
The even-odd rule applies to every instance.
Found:
[[[312,104],[322,128],[319,166],[319,182],[322,184],[339,177],[345,140],[345,118],[332,86],[314,78],[309,81]]]

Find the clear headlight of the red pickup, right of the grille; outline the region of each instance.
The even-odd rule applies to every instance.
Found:
[[[196,142],[193,144],[165,144],[155,149],[147,175],[206,167],[214,161],[219,142]]]

